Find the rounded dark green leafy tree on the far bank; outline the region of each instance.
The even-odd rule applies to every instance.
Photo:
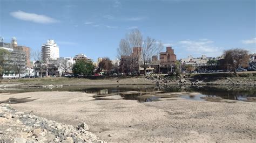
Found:
[[[77,60],[76,63],[73,65],[73,73],[75,75],[80,76],[90,76],[93,73],[95,66],[93,65],[91,60]]]

